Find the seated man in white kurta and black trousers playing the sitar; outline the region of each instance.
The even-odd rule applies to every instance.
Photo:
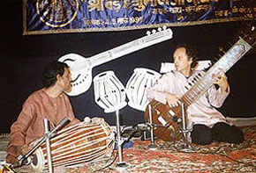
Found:
[[[185,86],[200,70],[194,70],[197,52],[189,45],[179,45],[173,54],[176,70],[164,74],[158,83],[147,90],[147,98],[162,104],[177,105],[187,91]],[[216,108],[222,106],[230,93],[230,86],[224,72],[213,76],[215,85],[209,88],[195,103],[186,109],[187,128],[192,129],[192,143],[207,145],[212,141],[240,143],[245,140],[244,133],[237,126],[230,125]]]

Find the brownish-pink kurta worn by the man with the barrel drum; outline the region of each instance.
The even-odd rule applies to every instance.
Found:
[[[75,119],[70,100],[64,93],[58,97],[49,97],[44,89],[32,93],[26,99],[18,119],[11,126],[8,155],[19,156],[15,146],[29,144],[44,135],[44,118],[57,125],[64,117],[72,121],[69,126],[80,122]]]

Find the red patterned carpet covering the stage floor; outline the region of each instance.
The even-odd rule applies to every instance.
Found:
[[[91,162],[76,168],[59,169],[55,172],[256,172],[256,126],[241,127],[245,133],[242,144],[213,142],[208,146],[192,145],[190,152],[178,151],[183,142],[157,140],[159,148],[149,150],[150,141],[132,139],[132,148],[124,148],[125,169],[117,167],[118,157],[108,168],[106,162]],[[113,157],[117,155],[117,151]],[[109,164],[113,160],[109,160]],[[18,172],[34,172],[29,166]]]

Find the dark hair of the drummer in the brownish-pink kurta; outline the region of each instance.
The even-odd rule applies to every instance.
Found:
[[[46,66],[42,73],[42,85],[45,88],[49,88],[56,83],[56,76],[64,75],[64,68],[69,68],[68,65],[60,61],[51,61]]]

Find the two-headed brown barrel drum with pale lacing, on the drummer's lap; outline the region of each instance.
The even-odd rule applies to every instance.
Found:
[[[50,139],[52,165],[72,166],[82,162],[96,162],[108,157],[114,149],[114,133],[109,125],[99,118],[64,128]],[[34,170],[41,172],[48,168],[45,143],[34,153]]]

